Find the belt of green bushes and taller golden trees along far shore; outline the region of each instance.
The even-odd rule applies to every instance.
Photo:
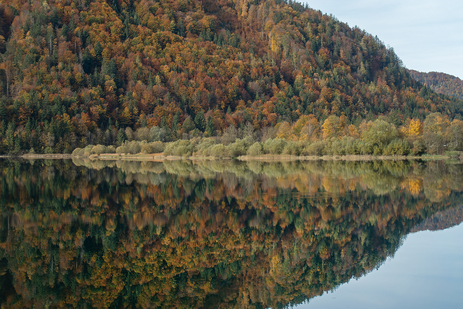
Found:
[[[205,137],[188,123],[181,139],[166,141],[163,128],[127,128],[116,145],[76,148],[74,157],[157,154],[183,158],[288,158],[321,156],[445,156],[458,158],[463,145],[463,122],[449,121],[442,114],[425,121],[408,120],[396,127],[386,119],[347,126],[343,117],[330,116],[320,126],[315,117],[301,116],[290,124],[256,129],[250,122],[229,126],[222,134]],[[32,153],[31,153],[32,155]]]

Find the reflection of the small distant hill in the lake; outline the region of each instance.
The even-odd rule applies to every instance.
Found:
[[[449,208],[443,211],[438,211],[431,217],[426,218],[423,222],[413,227],[410,232],[418,231],[437,231],[444,230],[449,227],[454,227],[463,222],[463,205],[460,207]]]

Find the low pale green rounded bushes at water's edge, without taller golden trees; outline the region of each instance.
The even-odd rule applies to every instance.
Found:
[[[286,139],[267,139],[254,142],[250,137],[236,139],[225,145],[216,138],[180,139],[163,143],[147,141],[127,141],[117,148],[104,145],[88,145],[76,148],[72,157],[130,157],[130,158],[241,158],[241,159],[284,159],[310,158],[322,156],[344,156],[353,159],[389,158],[389,157],[430,157],[459,158],[460,151],[444,151],[442,155],[415,154],[407,141],[394,140],[382,153],[371,153],[370,145],[360,139],[343,137],[325,139],[308,143]],[[47,155],[25,155],[25,157],[44,157]],[[55,156],[55,155],[49,155]],[[69,156],[69,155],[66,155]]]

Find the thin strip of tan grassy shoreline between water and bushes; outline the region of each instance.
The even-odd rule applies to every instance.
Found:
[[[287,156],[287,155],[261,155],[261,156],[240,156],[237,158],[215,158],[215,157],[180,157],[164,156],[162,153],[155,154],[136,154],[136,155],[119,155],[113,153],[104,153],[100,156],[91,155],[90,157],[76,157],[71,154],[25,154],[22,156],[0,156],[0,158],[24,158],[24,159],[90,159],[90,160],[143,160],[143,161],[163,161],[163,160],[227,160],[237,159],[240,161],[401,161],[401,160],[445,160],[452,159],[445,155],[432,156],[373,156],[373,155],[324,155],[324,156]],[[462,156],[453,158],[462,160]]]

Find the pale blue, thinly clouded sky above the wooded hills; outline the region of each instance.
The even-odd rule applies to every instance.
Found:
[[[306,3],[307,1],[302,1]],[[408,69],[463,79],[463,1],[313,0],[308,5],[394,47]]]

